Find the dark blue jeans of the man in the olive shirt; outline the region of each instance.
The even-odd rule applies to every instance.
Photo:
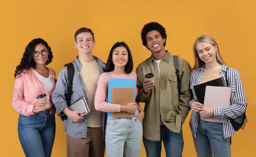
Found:
[[[175,133],[165,125],[160,125],[160,141],[152,141],[143,137],[147,157],[161,157],[162,141],[166,157],[182,157],[184,146],[182,126],[180,132]]]

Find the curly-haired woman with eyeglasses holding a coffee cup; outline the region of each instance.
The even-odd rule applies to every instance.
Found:
[[[12,107],[20,116],[18,136],[26,157],[50,157],[55,138],[55,111],[51,96],[55,71],[46,67],[52,51],[43,39],[32,40],[14,74]]]

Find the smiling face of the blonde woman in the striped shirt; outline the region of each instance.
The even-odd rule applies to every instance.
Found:
[[[217,45],[213,46],[207,42],[199,42],[196,44],[196,51],[200,60],[209,64],[211,62],[215,62],[216,60],[216,52]]]

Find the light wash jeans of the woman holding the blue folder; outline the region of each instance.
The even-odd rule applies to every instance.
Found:
[[[135,117],[138,110],[135,113]],[[106,127],[107,157],[140,157],[142,122],[132,118],[108,117]]]

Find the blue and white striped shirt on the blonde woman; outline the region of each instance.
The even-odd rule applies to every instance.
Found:
[[[192,90],[193,93],[193,99],[189,102],[190,107],[193,101],[197,101],[196,94],[194,91],[194,85],[198,85],[201,82],[204,75],[203,68],[204,66],[202,66],[198,70],[193,70],[190,74],[190,89]],[[231,102],[229,107],[225,107],[222,109],[214,109],[214,117],[219,117],[220,119],[229,117],[234,119],[242,115],[246,110],[246,97],[244,93],[244,88],[240,79],[240,75],[236,69],[228,68],[228,66],[223,64],[220,73],[221,76],[224,78],[225,74],[227,74],[229,87],[231,87]],[[196,111],[192,111],[189,125],[194,137],[196,137],[198,117],[199,113]],[[222,128],[223,137],[225,140],[228,140],[228,137],[235,134],[234,128],[229,118],[228,123],[223,123]]]

